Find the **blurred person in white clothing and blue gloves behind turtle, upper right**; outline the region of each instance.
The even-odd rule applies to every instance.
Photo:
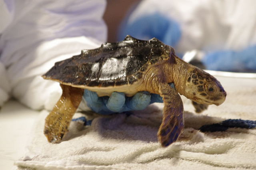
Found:
[[[180,58],[193,51],[188,61],[194,57],[208,70],[256,72],[254,6],[255,0],[142,0],[124,18],[118,41],[155,37]]]

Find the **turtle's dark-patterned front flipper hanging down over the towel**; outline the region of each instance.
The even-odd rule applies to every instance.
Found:
[[[163,147],[176,142],[183,131],[183,104],[177,91],[168,84],[160,84],[160,96],[164,101],[162,124],[157,133]]]

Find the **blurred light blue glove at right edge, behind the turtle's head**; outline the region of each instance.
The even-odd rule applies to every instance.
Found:
[[[208,53],[202,62],[208,70],[237,71],[256,70],[256,45],[240,51],[223,50]]]

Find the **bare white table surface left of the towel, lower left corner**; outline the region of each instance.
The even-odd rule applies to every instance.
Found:
[[[29,133],[39,115],[16,100],[0,110],[0,170],[10,170],[25,151]]]

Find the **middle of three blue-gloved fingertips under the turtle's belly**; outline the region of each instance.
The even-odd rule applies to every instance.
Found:
[[[124,103],[126,102],[124,93],[112,92],[109,98],[104,98],[103,100],[106,107],[112,112],[123,112],[122,108],[124,108]]]

